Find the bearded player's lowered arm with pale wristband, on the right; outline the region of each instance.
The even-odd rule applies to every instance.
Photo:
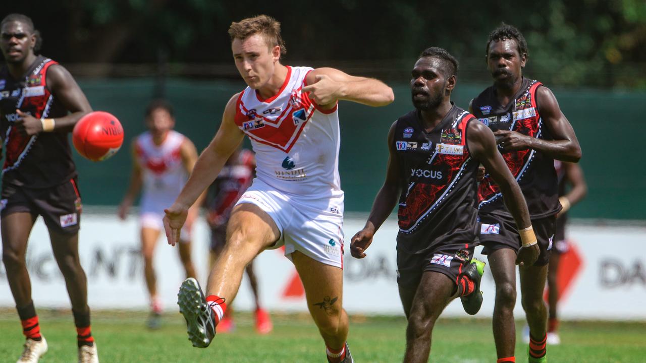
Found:
[[[468,126],[467,142],[471,154],[485,166],[490,176],[494,178],[494,182],[503,193],[508,211],[514,216],[523,242],[516,257],[516,264],[533,265],[541,251],[532,230],[527,203],[516,179],[496,148],[494,133],[483,123],[474,120]]]

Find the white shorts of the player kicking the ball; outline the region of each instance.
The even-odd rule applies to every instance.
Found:
[[[300,251],[309,258],[343,269],[343,194],[312,200],[273,190],[254,180],[236,205],[251,203],[269,214],[280,238],[271,249],[285,246],[285,256]]]

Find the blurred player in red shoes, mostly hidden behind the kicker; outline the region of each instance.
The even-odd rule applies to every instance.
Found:
[[[222,254],[227,238],[227,222],[231,216],[233,205],[238,202],[255,175],[256,158],[251,150],[238,149],[231,154],[227,163],[222,167],[213,184],[207,190],[204,205],[207,209],[207,222],[211,228],[211,251],[209,253],[209,267],[213,269],[216,258]],[[256,305],[256,331],[267,334],[273,329],[269,313],[260,307],[260,294],[258,293],[258,280],[253,272],[253,261],[245,267],[251,292]],[[227,309],[227,314],[218,324],[218,332],[233,330],[233,309]]]

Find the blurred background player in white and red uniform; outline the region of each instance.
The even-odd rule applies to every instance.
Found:
[[[146,109],[146,126],[132,141],[132,174],[130,186],[119,206],[119,217],[125,220],[132,202],[143,186],[141,196],[141,254],[146,287],[151,298],[151,316],[147,325],[156,329],[160,325],[161,302],[157,293],[157,278],[152,256],[157,240],[163,231],[163,209],[180,194],[187,176],[198,158],[195,145],[173,129],[175,117],[167,101],[152,101]],[[180,260],[187,277],[195,278],[191,260],[191,226],[198,214],[191,208],[187,223],[180,236]]]

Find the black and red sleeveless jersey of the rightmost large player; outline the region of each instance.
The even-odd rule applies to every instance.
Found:
[[[494,86],[486,88],[472,103],[474,115],[493,131],[512,130],[532,138],[553,140],[536,106],[536,90],[541,85],[539,81],[523,78],[514,101],[506,107],[498,103]],[[507,152],[503,158],[523,191],[532,218],[551,216],[561,209],[554,159],[534,149]],[[481,213],[511,216],[500,189],[489,175],[480,182],[478,197]]]

